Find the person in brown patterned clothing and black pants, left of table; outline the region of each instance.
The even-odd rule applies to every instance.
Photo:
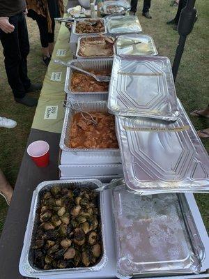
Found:
[[[54,18],[63,16],[63,0],[26,0],[26,4],[28,17],[36,20],[38,24],[42,61],[48,66],[54,50]]]

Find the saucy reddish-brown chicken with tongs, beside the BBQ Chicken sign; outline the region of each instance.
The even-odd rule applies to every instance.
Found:
[[[97,121],[95,126],[84,119],[80,112],[72,118],[69,146],[74,149],[118,149],[115,133],[114,115],[102,112],[91,112]],[[84,114],[89,118],[88,114]]]

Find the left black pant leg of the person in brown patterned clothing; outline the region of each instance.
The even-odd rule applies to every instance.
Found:
[[[40,43],[42,47],[49,46],[49,38],[48,38],[48,23],[47,18],[42,15],[36,16],[36,22],[38,24],[38,29],[40,32]]]

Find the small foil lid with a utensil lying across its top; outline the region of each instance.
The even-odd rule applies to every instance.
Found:
[[[152,37],[148,35],[121,35],[116,40],[118,55],[157,55]]]

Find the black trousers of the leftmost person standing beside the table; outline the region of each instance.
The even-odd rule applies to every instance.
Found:
[[[9,22],[15,27],[13,33],[4,33],[0,29],[6,74],[15,98],[23,98],[31,85],[26,60],[30,49],[28,30],[23,13],[13,15]]]

